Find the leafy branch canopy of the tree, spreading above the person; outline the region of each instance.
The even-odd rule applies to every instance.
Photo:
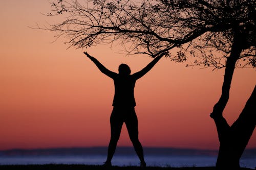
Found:
[[[127,53],[155,56],[175,47],[178,53],[171,59],[176,62],[193,56],[188,65],[222,68],[234,34],[241,33],[237,66],[256,66],[255,1],[56,0],[51,5],[48,16],[66,19],[46,29],[77,48],[117,41]]]

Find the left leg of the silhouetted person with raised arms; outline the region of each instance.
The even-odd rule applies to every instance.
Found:
[[[111,163],[111,160],[114,156],[117,141],[120,137],[123,121],[118,117],[117,110],[113,109],[110,117],[110,127],[111,127],[111,138],[108,148],[108,157],[106,158],[105,164]]]

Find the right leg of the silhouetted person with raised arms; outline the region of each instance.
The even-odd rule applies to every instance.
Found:
[[[131,110],[130,115],[127,116],[127,118],[125,119],[125,125],[126,125],[128,133],[129,133],[129,137],[133,143],[135,152],[137,153],[137,155],[140,159],[140,165],[144,167],[144,166],[146,166],[146,163],[144,160],[143,148],[139,141],[138,118],[137,118],[134,108]]]

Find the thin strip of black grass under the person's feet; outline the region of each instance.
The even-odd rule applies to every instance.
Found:
[[[100,165],[84,165],[84,164],[33,164],[33,165],[0,165],[0,169],[26,169],[26,170],[82,170],[82,169],[92,169],[92,170],[215,170],[215,167],[159,167],[159,166],[148,166],[141,168],[139,166],[112,166],[112,167],[103,167]],[[250,168],[241,168],[243,170],[249,170]],[[227,169],[229,170],[229,169]]]

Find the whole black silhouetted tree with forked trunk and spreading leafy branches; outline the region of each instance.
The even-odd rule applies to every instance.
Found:
[[[217,167],[239,167],[240,157],[256,124],[255,88],[237,121],[222,116],[236,67],[256,67],[255,0],[56,0],[47,16],[65,16],[46,29],[69,39],[77,48],[119,42],[127,54],[155,57],[165,53],[175,62],[225,68],[222,94],[214,119],[219,141]],[[170,55],[176,48],[177,54]]]

